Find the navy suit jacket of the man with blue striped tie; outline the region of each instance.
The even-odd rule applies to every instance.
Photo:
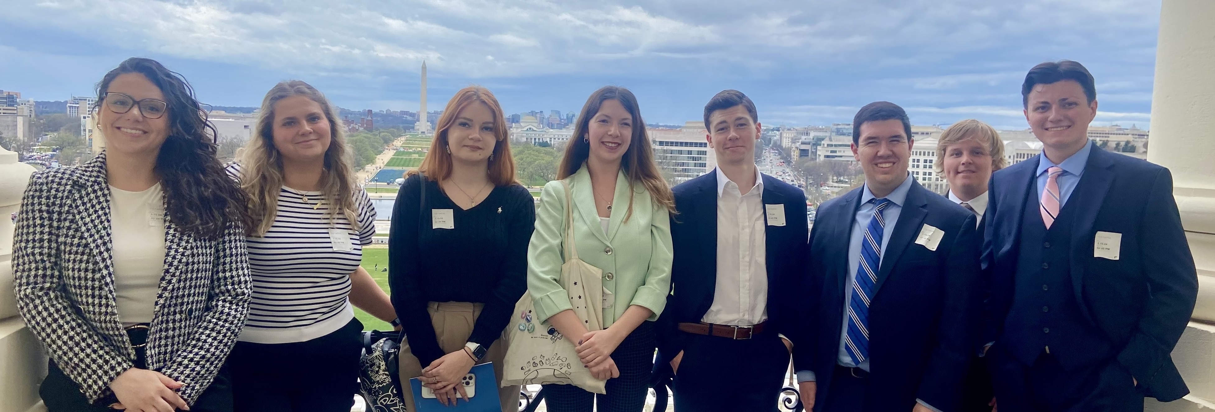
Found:
[[[864,187],[823,203],[810,230],[813,350],[793,349],[798,371],[814,371],[818,401],[831,390],[840,355],[848,241]],[[912,181],[891,235],[869,309],[866,411],[910,411],[920,399],[956,411],[978,327],[979,236],[974,214]],[[944,231],[937,250],[916,244],[923,225]]]

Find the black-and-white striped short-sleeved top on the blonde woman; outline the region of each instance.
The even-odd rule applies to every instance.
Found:
[[[239,165],[230,164],[227,173],[239,179]],[[354,318],[350,273],[375,235],[375,209],[367,191],[357,187],[354,196],[357,231],[341,213],[330,225],[321,192],[279,188],[273,226],[261,237],[247,238],[253,301],[238,340],[305,342]]]

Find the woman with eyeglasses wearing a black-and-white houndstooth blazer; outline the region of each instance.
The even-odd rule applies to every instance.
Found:
[[[231,411],[244,193],[181,75],[130,58],[97,101],[106,149],[34,174],[17,219],[17,307],[51,359],[39,394],[50,412]]]

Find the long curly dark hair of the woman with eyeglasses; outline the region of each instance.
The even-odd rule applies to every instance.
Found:
[[[228,224],[249,227],[244,191],[215,157],[219,132],[181,74],[151,58],[128,58],[97,83],[94,109],[101,107],[109,84],[126,73],[146,77],[169,103],[169,137],[160,146],[154,170],[160,175],[165,213],[173,222],[182,232],[202,238],[221,237]]]

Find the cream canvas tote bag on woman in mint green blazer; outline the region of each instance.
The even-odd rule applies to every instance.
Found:
[[[565,233],[561,238],[565,263],[561,264],[561,287],[570,293],[570,305],[587,331],[603,329],[603,271],[578,259],[573,244],[573,202],[570,185],[565,187]],[[548,322],[536,322],[531,293],[515,304],[514,327],[508,337],[503,361],[502,385],[566,384],[594,394],[605,394],[606,380],[595,379],[578,360],[577,339],[566,337]],[[571,340],[573,339],[573,340]]]

